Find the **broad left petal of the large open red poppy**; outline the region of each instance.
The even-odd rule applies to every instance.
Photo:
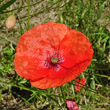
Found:
[[[26,79],[47,76],[44,67],[46,57],[58,51],[59,41],[69,30],[64,24],[49,22],[25,32],[17,45],[16,72]]]

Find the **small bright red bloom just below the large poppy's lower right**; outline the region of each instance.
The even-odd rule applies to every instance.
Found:
[[[76,79],[75,90],[77,92],[79,92],[85,84],[86,84],[86,79],[85,78],[81,78],[80,81],[79,81],[79,79]]]

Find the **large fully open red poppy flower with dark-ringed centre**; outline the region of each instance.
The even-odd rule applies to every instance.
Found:
[[[49,22],[21,36],[14,65],[18,75],[46,89],[75,79],[92,57],[92,44],[85,35],[64,24]]]

